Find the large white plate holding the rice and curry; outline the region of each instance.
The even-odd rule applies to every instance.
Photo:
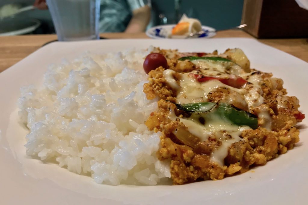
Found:
[[[282,78],[290,96],[297,96],[303,113],[308,113],[306,84],[308,64],[294,56],[254,39],[182,40],[101,40],[51,43],[40,48],[0,74],[0,204],[307,204],[308,131],[301,125],[297,146],[265,166],[218,181],[181,186],[108,186],[92,178],[73,174],[55,164],[43,164],[25,156],[27,130],[18,125],[16,100],[19,88],[39,84],[50,63],[72,59],[85,50],[114,52],[129,47],[178,48],[205,51],[239,47],[253,68]]]

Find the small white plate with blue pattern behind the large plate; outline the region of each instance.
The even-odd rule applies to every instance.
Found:
[[[175,27],[175,24],[169,24],[169,25],[160,25],[150,28],[146,34],[148,37],[151,37],[152,39],[168,39],[167,35],[168,33],[171,33],[172,28]],[[202,31],[215,31],[214,28],[209,26],[202,26]],[[202,34],[198,38],[201,39],[208,39],[216,35],[215,32],[211,32],[208,34]],[[193,38],[190,38],[193,39]]]

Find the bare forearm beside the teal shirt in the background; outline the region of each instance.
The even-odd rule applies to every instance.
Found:
[[[133,17],[125,29],[125,33],[144,32],[151,18],[151,8],[148,5],[132,11]]]

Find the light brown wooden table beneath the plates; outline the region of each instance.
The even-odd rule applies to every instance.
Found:
[[[149,38],[145,33],[103,33],[108,39]],[[241,30],[219,31],[214,38],[244,37],[253,38]],[[56,40],[56,35],[20,35],[0,37],[0,72],[14,65],[45,43]],[[258,41],[275,47],[308,62],[307,39],[258,39]]]

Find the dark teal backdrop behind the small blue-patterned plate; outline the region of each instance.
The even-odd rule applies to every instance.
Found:
[[[152,0],[152,10],[156,17],[155,25],[163,24],[160,14],[166,14],[170,18],[176,16],[176,2],[178,1]],[[179,16],[185,13],[188,17],[198,18],[202,25],[220,30],[241,23],[244,0],[181,0],[179,2]],[[170,23],[177,23],[177,20],[171,20]]]

